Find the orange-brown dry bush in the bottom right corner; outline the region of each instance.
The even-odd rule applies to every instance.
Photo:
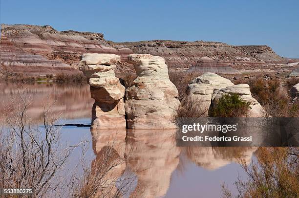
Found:
[[[256,158],[248,165],[245,156],[237,157],[248,179],[237,178],[237,196],[223,184],[223,198],[298,198],[299,147],[260,147]]]

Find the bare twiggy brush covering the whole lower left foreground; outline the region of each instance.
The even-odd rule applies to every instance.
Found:
[[[30,188],[32,197],[117,198],[126,194],[134,176],[109,178],[115,167],[124,163],[109,147],[113,142],[107,142],[108,149],[90,168],[85,163],[88,141],[76,145],[61,141],[61,126],[57,126],[60,116],[50,111],[55,103],[45,105],[42,126],[31,122],[28,109],[33,98],[28,91],[18,89],[16,97],[5,106],[5,121],[0,128],[0,188]],[[82,155],[77,157],[81,161],[76,162],[75,169],[68,170],[66,166],[75,149],[82,150]],[[115,190],[111,191],[112,188]]]

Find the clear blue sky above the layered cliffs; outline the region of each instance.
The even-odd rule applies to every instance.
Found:
[[[266,44],[299,58],[299,0],[0,0],[0,22],[49,24],[123,41]]]

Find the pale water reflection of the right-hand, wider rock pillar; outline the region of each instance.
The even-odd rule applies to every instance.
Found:
[[[171,174],[179,163],[175,130],[135,130],[128,132],[127,163],[138,178],[131,197],[156,198],[166,194]]]

